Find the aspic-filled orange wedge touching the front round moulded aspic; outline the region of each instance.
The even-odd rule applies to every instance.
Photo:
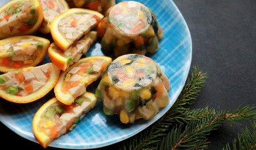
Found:
[[[112,59],[108,56],[91,56],[80,59],[59,76],[54,87],[56,98],[70,105],[78,96],[86,92],[86,87],[101,78]]]

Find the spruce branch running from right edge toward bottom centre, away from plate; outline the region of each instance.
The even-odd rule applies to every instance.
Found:
[[[238,106],[232,113],[220,110],[215,111],[215,109],[208,110],[208,108],[186,111],[185,119],[178,119],[185,121],[187,125],[180,124],[178,128],[174,127],[172,131],[158,143],[157,149],[207,148],[207,144],[209,143],[207,136],[211,131],[218,129],[218,127],[225,122],[235,123],[234,121],[255,118],[255,116],[256,112],[254,106],[245,106],[241,109],[240,106]],[[182,130],[182,128],[184,129]]]

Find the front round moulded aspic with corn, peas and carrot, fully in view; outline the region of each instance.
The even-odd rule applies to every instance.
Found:
[[[122,123],[151,119],[168,104],[170,83],[160,67],[140,54],[116,58],[96,89],[107,115],[120,114]]]

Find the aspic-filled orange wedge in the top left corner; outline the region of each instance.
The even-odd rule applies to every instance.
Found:
[[[32,34],[43,21],[38,0],[10,1],[0,8],[0,14],[0,39]]]

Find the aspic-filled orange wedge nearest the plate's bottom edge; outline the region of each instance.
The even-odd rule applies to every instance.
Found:
[[[93,93],[84,93],[71,106],[59,102],[56,98],[49,99],[34,114],[32,128],[36,139],[43,148],[65,133],[71,131],[83,119],[85,113],[96,105]],[[75,111],[73,111],[75,110]]]

